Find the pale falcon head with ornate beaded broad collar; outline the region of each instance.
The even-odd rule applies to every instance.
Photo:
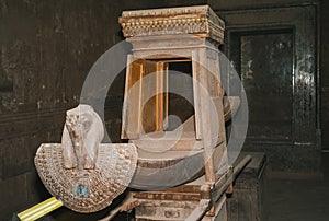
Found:
[[[48,191],[77,212],[110,206],[129,185],[137,164],[133,143],[100,143],[103,125],[90,106],[67,112],[61,143],[43,143],[35,156]]]

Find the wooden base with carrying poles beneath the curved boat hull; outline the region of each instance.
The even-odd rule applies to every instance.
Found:
[[[223,176],[229,178],[229,176]],[[157,191],[135,191],[136,219],[141,220],[223,220],[226,221],[226,196],[212,202],[215,186],[202,176],[191,183]]]

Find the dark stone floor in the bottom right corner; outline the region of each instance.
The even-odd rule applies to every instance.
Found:
[[[268,221],[328,221],[329,182],[272,181]]]

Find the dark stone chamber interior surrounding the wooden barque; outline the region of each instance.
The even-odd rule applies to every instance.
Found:
[[[50,197],[34,165],[36,150],[60,143],[66,111],[79,104],[90,69],[125,39],[122,12],[204,4],[225,21],[219,48],[237,70],[249,107],[242,154],[252,161],[227,199],[227,221],[329,220],[326,0],[0,0],[0,220],[18,220]],[[166,62],[191,75],[190,61]],[[125,74],[114,79],[104,104],[112,142],[125,142]],[[191,82],[172,84],[192,92]],[[193,103],[168,96],[169,115],[181,121],[194,115]],[[177,118],[168,120],[163,130],[178,128]],[[61,207],[39,220],[99,220],[123,196],[95,213]],[[114,220],[133,217],[121,212]]]

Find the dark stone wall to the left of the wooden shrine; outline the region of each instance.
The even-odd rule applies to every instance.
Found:
[[[156,1],[0,0],[0,220],[48,197],[35,172],[36,149],[60,142],[65,112],[79,103],[93,62],[123,39],[117,18],[138,8]],[[116,82],[107,97],[113,140],[123,74]]]

